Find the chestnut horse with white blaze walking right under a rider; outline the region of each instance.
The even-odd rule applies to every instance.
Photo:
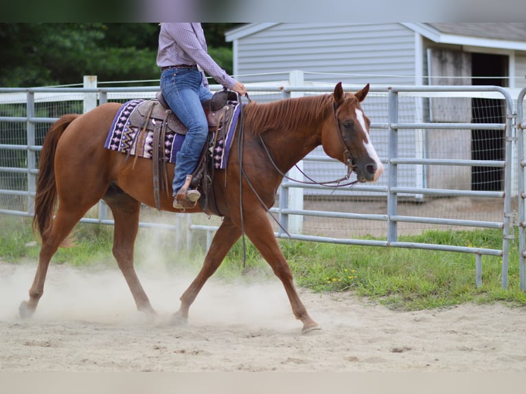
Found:
[[[205,282],[222,263],[230,248],[247,235],[282,281],[294,316],[303,323],[302,333],[318,329],[299,299],[293,273],[275,238],[270,209],[284,174],[321,145],[328,156],[347,167],[347,176],[358,182],[375,182],[383,171],[369,136],[369,118],[361,102],[369,84],[356,93],[344,92],[341,82],[334,92],[293,97],[277,102],[250,102],[242,109],[227,168],[214,173],[212,188],[223,220],[205,255],[201,270],[183,292],[174,324],[188,320],[190,305]],[[155,207],[152,163],[104,148],[112,121],[122,104],[105,103],[83,115],[60,117],[49,128],[38,165],[33,228],[41,238],[36,275],[29,299],[19,313],[34,314],[44,290],[49,261],[65,246],[73,227],[87,211],[104,200],[114,218],[113,256],[124,275],[137,310],[155,315],[133,262],[133,246],[139,228],[141,203]],[[234,147],[235,145],[235,147]],[[168,176],[174,165],[168,164]],[[171,187],[170,187],[171,191]],[[172,207],[171,194],[160,196],[161,210]],[[196,213],[196,205],[185,213]]]

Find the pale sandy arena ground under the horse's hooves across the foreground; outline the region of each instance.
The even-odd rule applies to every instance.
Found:
[[[118,270],[49,268],[23,321],[36,266],[0,262],[0,371],[526,371],[526,309],[394,312],[349,293],[301,291],[323,329],[301,335],[280,283],[212,278],[188,325],[168,325],[190,277],[139,272],[159,312],[135,311]]]

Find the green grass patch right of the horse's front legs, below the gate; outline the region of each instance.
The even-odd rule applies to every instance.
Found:
[[[499,231],[427,231],[407,242],[501,248]],[[292,245],[292,243],[290,243]],[[483,256],[483,286],[474,285],[475,257],[468,253],[405,248],[304,244],[284,249],[299,286],[317,291],[353,290],[390,308],[421,310],[459,303],[506,301],[526,305],[519,288],[518,243],[510,248],[508,289],[501,288],[501,257]]]

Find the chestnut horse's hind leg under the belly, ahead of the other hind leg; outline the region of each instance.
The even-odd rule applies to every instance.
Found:
[[[144,292],[143,287],[133,267],[133,245],[139,230],[140,202],[127,194],[111,192],[104,196],[104,201],[110,207],[115,220],[113,233],[113,256],[128,283],[133,295],[137,310],[155,314],[150,300]]]

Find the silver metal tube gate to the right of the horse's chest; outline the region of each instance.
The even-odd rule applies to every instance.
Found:
[[[302,88],[305,89],[305,88]],[[296,89],[290,89],[295,91]],[[375,89],[371,89],[375,92]],[[418,122],[402,122],[400,121],[400,100],[401,96],[408,97],[436,97],[435,93],[445,93],[446,95],[454,95],[455,93],[498,93],[505,102],[505,121],[503,124],[474,124],[470,122],[454,123],[454,122],[432,122],[422,121]],[[513,142],[514,142],[514,111],[513,100],[510,94],[505,89],[499,86],[393,86],[387,89],[389,115],[387,122],[384,124],[373,123],[371,130],[376,128],[385,129],[389,132],[389,152],[386,159],[382,159],[386,164],[388,181],[385,186],[361,186],[356,185],[352,188],[352,192],[381,192],[387,195],[387,214],[370,214],[367,215],[369,220],[380,220],[387,222],[387,240],[334,240],[328,237],[312,237],[300,234],[293,234],[291,237],[298,240],[309,240],[317,242],[336,242],[342,244],[358,244],[367,246],[387,246],[397,248],[422,248],[437,251],[453,251],[461,253],[472,253],[475,256],[475,282],[477,286],[481,285],[482,273],[482,256],[494,255],[502,257],[501,270],[501,286],[507,288],[508,281],[508,266],[509,266],[509,249],[510,240],[514,238],[512,234],[512,218],[515,213],[511,207],[512,197],[512,165],[505,165],[505,163],[512,163],[513,157]],[[444,97],[439,95],[439,97]],[[367,111],[366,111],[367,112]],[[425,157],[415,158],[407,157],[400,154],[398,150],[398,134],[400,130],[472,130],[474,128],[483,130],[502,130],[505,139],[505,157],[501,161],[477,161],[477,160],[459,160],[459,159],[428,159]],[[459,166],[492,166],[501,167],[504,171],[504,187],[501,191],[473,191],[473,190],[456,190],[456,189],[432,189],[429,187],[402,187],[398,184],[398,166],[400,165],[459,165]],[[297,215],[334,215],[332,212],[323,211],[298,211],[288,209],[286,207],[286,189],[293,187],[301,187],[290,181],[282,183],[282,190],[280,192],[279,215],[283,226],[286,226],[286,216],[290,214]],[[316,186],[314,186],[316,187]],[[281,196],[284,198],[281,198]],[[503,216],[501,221],[482,222],[474,220],[452,220],[448,218],[431,218],[431,217],[416,217],[416,216],[402,216],[398,214],[398,199],[401,195],[404,196],[470,196],[477,198],[501,198],[503,200]],[[341,213],[349,218],[363,218],[363,215],[354,213]],[[400,222],[427,222],[434,224],[446,224],[450,226],[464,226],[464,227],[484,227],[493,229],[502,229],[503,244],[502,249],[479,248],[474,246],[459,246],[459,245],[438,245],[438,244],[424,244],[415,242],[400,242],[398,240],[398,224]],[[288,234],[283,231],[277,233],[279,237],[288,237]]]

